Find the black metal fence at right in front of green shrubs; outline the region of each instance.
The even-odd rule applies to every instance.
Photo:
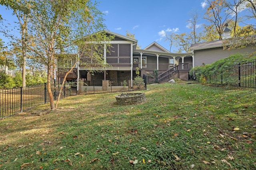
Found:
[[[221,74],[207,77],[206,81],[212,84],[256,88],[256,59],[234,64]]]

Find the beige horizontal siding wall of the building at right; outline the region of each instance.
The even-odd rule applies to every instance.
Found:
[[[213,48],[213,49],[203,49],[203,50],[195,50],[194,51],[194,66],[201,66],[204,64],[211,64],[220,59],[229,57],[230,55],[234,55],[236,53],[252,53],[256,51],[255,46],[252,49],[252,46],[248,46],[242,49],[234,49],[234,50],[223,50],[222,47]]]

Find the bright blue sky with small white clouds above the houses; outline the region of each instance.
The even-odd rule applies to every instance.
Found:
[[[170,41],[166,41],[165,34],[188,33],[187,20],[190,13],[197,10],[198,24],[205,22],[205,0],[96,0],[100,2],[98,9],[105,14],[104,23],[109,31],[126,35],[126,31],[135,35],[138,45],[145,48],[156,41],[170,51]],[[230,0],[231,2],[233,0]],[[10,10],[0,6],[2,18],[13,25],[17,21]],[[1,26],[1,25],[0,25]],[[18,35],[18,32],[14,32]],[[0,38],[8,42],[1,33]],[[171,52],[176,48],[172,46]]]

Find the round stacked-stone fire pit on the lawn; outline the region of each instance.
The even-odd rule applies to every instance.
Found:
[[[144,93],[122,93],[116,96],[116,103],[119,105],[132,105],[146,101]]]

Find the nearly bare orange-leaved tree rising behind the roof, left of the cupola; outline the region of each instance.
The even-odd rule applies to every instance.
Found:
[[[204,19],[215,26],[219,39],[222,39],[225,24],[230,21],[230,12],[226,10],[226,0],[206,0],[206,2],[208,7]]]

